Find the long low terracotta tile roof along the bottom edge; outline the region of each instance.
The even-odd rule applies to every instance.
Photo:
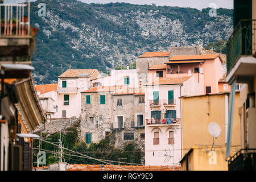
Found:
[[[180,171],[180,166],[111,166],[68,164],[67,171]]]

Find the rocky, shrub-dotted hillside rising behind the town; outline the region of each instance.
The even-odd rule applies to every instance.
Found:
[[[39,16],[39,3],[46,16]],[[86,4],[75,0],[31,3],[31,24],[36,36],[36,84],[55,82],[68,68],[107,71],[135,61],[146,51],[167,51],[170,46],[206,46],[227,40],[233,31],[233,11],[131,5]]]

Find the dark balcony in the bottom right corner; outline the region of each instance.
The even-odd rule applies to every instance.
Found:
[[[228,160],[229,171],[256,171],[256,148],[241,149]]]

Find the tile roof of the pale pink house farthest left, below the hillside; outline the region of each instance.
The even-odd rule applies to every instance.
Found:
[[[59,78],[63,77],[90,77],[94,72],[98,72],[97,69],[68,69],[62,73]],[[92,79],[92,78],[91,78]]]

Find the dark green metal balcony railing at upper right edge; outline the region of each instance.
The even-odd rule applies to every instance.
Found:
[[[255,51],[256,20],[240,20],[226,43],[227,71],[233,67],[241,55],[252,55]]]

